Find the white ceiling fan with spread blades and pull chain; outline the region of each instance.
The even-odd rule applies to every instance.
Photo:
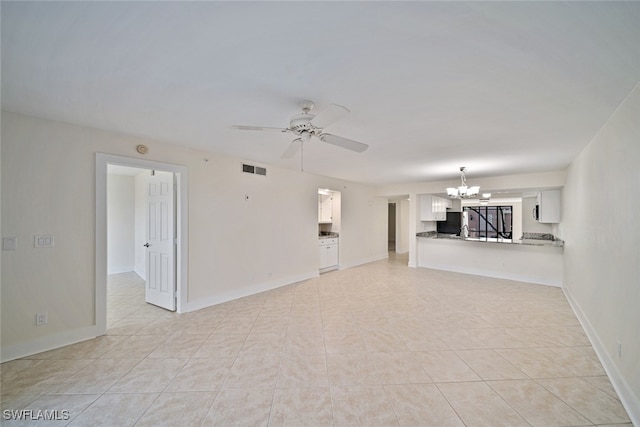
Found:
[[[233,127],[240,130],[266,130],[294,134],[296,138],[291,142],[284,153],[282,153],[283,159],[293,157],[303,144],[308,142],[312,136],[319,138],[322,142],[337,145],[338,147],[346,148],[347,150],[356,151],[358,153],[369,148],[367,144],[363,144],[362,142],[332,135],[324,131],[325,127],[339,119],[342,119],[351,112],[342,105],[331,104],[318,113],[318,115],[311,114],[311,110],[315,107],[315,104],[312,101],[300,101],[298,106],[302,109],[302,113],[291,117],[289,120],[289,127],[285,129],[242,125],[234,125]]]

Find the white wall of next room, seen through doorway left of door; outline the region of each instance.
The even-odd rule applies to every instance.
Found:
[[[107,177],[107,274],[135,269],[134,177]]]

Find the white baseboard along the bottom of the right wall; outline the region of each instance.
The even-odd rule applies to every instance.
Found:
[[[626,409],[627,414],[631,419],[631,423],[633,423],[634,426],[640,426],[640,399],[635,395],[627,381],[620,374],[618,367],[611,359],[611,356],[606,351],[605,346],[600,340],[600,337],[591,325],[591,322],[589,322],[587,316],[580,308],[580,305],[571,295],[571,292],[569,292],[569,290],[566,288],[562,288],[562,290],[567,297],[567,301],[569,301],[569,305],[578,318],[578,321],[587,334],[589,341],[591,341],[591,346],[595,350],[598,359],[600,359],[600,363],[602,363],[602,366],[607,373],[607,376],[609,377],[613,388],[616,390],[616,393],[618,393],[618,397],[620,397],[622,406],[624,406],[624,409]]]

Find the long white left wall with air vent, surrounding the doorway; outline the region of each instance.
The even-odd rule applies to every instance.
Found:
[[[3,112],[3,235],[56,242],[2,252],[3,360],[95,331],[96,152],[188,168],[188,310],[315,277],[318,188],[341,192],[342,267],[387,256],[386,199],[371,187],[269,166],[245,174],[242,159]],[[41,311],[49,324],[36,327]]]

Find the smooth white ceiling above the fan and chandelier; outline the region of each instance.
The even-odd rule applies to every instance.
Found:
[[[375,185],[565,168],[640,81],[639,2],[6,2],[2,107]]]

